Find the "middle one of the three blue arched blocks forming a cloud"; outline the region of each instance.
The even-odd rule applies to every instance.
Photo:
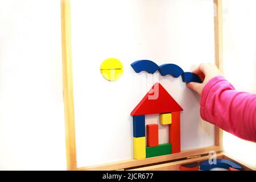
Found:
[[[159,66],[159,72],[162,76],[172,75],[175,78],[179,77],[184,73],[183,69],[181,69],[176,64],[163,64]]]

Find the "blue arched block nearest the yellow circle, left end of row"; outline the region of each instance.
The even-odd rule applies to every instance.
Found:
[[[155,73],[159,67],[153,61],[150,60],[138,60],[134,63],[131,63],[131,67],[134,69],[136,73],[146,71],[148,73]]]

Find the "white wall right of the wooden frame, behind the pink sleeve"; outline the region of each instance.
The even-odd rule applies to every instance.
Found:
[[[256,93],[256,1],[224,0],[224,73],[237,90]],[[255,113],[256,114],[256,113]],[[256,169],[256,143],[224,133],[224,151]]]

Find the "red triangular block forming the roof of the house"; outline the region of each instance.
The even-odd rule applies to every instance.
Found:
[[[131,115],[171,113],[183,110],[166,89],[159,83],[152,86]]]

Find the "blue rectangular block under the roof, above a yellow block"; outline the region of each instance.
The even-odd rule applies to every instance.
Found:
[[[145,115],[135,115],[133,117],[133,137],[146,137]]]

